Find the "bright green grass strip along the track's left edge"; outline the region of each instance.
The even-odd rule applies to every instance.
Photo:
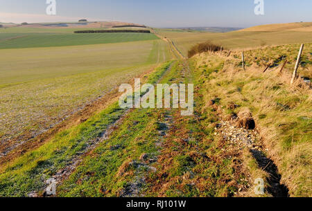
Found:
[[[155,84],[170,64],[171,62],[166,62],[159,66],[148,77],[147,82]],[[101,133],[125,111],[125,109],[120,109],[116,102],[96,113],[82,125],[59,133],[52,141],[21,156],[10,166],[1,167],[0,196],[27,196],[33,191],[42,190],[46,185],[45,179],[68,165],[68,160],[84,152],[89,141],[100,137]],[[140,117],[137,116],[137,118]]]

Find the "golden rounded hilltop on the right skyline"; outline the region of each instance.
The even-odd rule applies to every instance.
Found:
[[[292,31],[312,31],[312,22],[300,22],[300,23],[290,23],[290,24],[268,24],[262,26],[254,26],[251,28],[244,28],[241,31],[248,32],[273,32],[282,30],[292,30]]]

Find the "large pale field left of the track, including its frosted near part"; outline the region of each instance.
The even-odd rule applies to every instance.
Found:
[[[25,133],[36,136],[119,84],[171,59],[161,39],[1,49],[0,54],[1,141]]]

